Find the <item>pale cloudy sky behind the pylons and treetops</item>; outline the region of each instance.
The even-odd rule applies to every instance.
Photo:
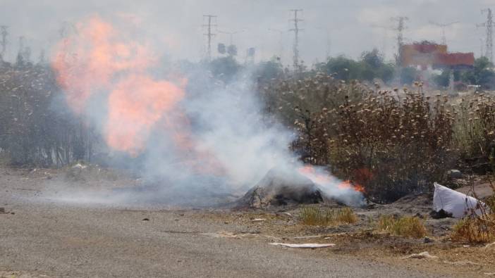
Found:
[[[357,58],[375,47],[393,58],[397,34],[391,18],[396,16],[409,18],[405,42],[440,42],[441,28],[429,22],[458,22],[446,27],[449,51],[478,57],[486,32],[476,25],[487,20],[484,8],[495,11],[495,0],[0,0],[0,25],[8,25],[10,60],[18,52],[20,36],[36,61],[42,49],[49,53],[59,41],[63,25],[99,15],[111,22],[132,22],[129,32],[152,41],[160,56],[198,61],[207,45],[203,15],[211,14],[217,16],[213,56],[218,55],[217,44],[230,42],[224,32],[238,32],[232,39],[240,62],[246,50],[255,47],[257,61],[278,55],[289,65],[294,42],[289,10],[302,9],[300,56],[311,65],[327,56]]]

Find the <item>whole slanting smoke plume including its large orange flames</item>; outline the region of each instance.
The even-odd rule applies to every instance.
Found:
[[[59,42],[52,59],[73,113],[153,185],[116,193],[114,200],[198,204],[208,196],[243,194],[274,167],[299,169],[346,203],[362,199],[323,170],[302,168],[288,149],[293,132],[265,118],[250,72],[228,84],[210,77],[207,67],[160,72],[149,45],[92,16]]]

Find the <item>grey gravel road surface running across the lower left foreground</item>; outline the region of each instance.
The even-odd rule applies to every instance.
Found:
[[[200,217],[204,210],[49,201],[46,183],[0,173],[6,210],[0,214],[0,277],[430,277],[319,250],[205,236],[242,231]]]

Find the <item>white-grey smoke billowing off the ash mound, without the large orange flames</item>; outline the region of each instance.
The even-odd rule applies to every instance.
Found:
[[[169,71],[174,70],[169,68]],[[148,68],[147,72],[159,78],[166,70]],[[126,75],[126,72],[119,74]],[[184,98],[175,104],[173,111],[163,112],[161,122],[156,122],[147,134],[145,148],[138,157],[116,153],[115,157],[121,159],[112,161],[135,168],[147,187],[115,191],[103,198],[96,197],[94,192],[86,196],[79,192],[72,199],[207,204],[220,201],[222,196],[240,196],[271,168],[297,171],[302,167],[289,150],[295,134],[264,115],[264,103],[253,89],[255,83],[250,70],[240,72],[227,83],[215,80],[209,68],[201,64],[181,74],[188,80]],[[102,122],[109,117],[108,94],[106,91],[92,94],[83,112],[102,135],[105,132]],[[167,117],[166,113],[180,113],[181,117]],[[185,120],[178,122],[182,118]],[[163,125],[167,120],[175,121],[174,128]],[[126,125],[133,124],[126,122]],[[187,135],[187,147],[178,146],[178,129]],[[324,193],[345,203],[362,200],[362,194],[338,189],[338,184],[338,179],[331,177],[330,182],[320,185]]]

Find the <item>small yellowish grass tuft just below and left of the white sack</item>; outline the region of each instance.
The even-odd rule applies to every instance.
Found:
[[[415,239],[420,239],[427,234],[424,222],[418,217],[405,216],[396,218],[391,215],[384,215],[379,219],[378,229],[398,236]]]

